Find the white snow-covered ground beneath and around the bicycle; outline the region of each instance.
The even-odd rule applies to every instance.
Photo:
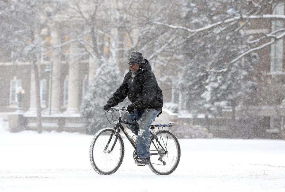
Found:
[[[9,133],[0,128],[0,191],[285,191],[285,141],[180,139],[181,161],[158,176],[125,158],[113,175],[89,162],[93,136],[79,133]]]

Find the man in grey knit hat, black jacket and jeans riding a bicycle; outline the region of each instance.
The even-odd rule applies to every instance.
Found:
[[[150,163],[149,145],[150,131],[149,127],[155,117],[162,112],[163,97],[156,78],[151,71],[151,65],[143,54],[138,51],[132,51],[129,58],[129,72],[125,75],[123,83],[113,93],[113,96],[104,105],[107,111],[111,107],[124,101],[126,96],[132,102],[124,113],[123,120],[136,123],[140,120],[140,125],[126,125],[132,133],[137,135],[137,164],[148,165]]]

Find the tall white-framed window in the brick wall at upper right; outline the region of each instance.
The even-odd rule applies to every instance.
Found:
[[[277,5],[273,4],[274,9],[272,14],[284,15],[284,2],[280,2]],[[271,31],[275,31],[284,27],[284,20],[273,20]],[[275,33],[275,35],[280,35],[283,31]],[[271,45],[271,64],[270,64],[270,72],[272,73],[280,73],[283,69],[283,45],[284,40],[279,39],[275,43]]]

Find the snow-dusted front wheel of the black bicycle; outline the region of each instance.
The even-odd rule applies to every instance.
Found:
[[[110,175],[121,166],[124,158],[124,142],[121,135],[116,139],[115,130],[104,128],[92,139],[89,157],[93,169],[100,175]],[[115,146],[111,151],[113,144]]]

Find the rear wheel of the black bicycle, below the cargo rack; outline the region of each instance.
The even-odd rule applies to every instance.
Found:
[[[178,139],[167,130],[161,130],[155,134],[157,140],[155,137],[151,138],[149,167],[157,175],[169,175],[177,168],[180,161],[181,150]]]

